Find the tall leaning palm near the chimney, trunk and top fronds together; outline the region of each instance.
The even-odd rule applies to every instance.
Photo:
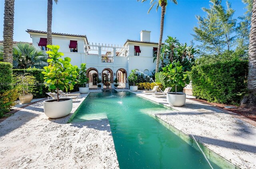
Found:
[[[137,0],[138,2],[140,0]],[[147,0],[141,0],[141,2],[145,2]],[[178,4],[176,0],[170,0],[174,4]],[[166,11],[166,6],[167,6],[167,0],[151,0],[150,1],[151,7],[148,10],[148,13],[150,10],[153,8],[154,5],[157,4],[156,6],[156,11],[158,10],[159,6],[161,6],[161,21],[160,21],[160,37],[159,37],[159,42],[158,42],[158,49],[157,49],[157,55],[156,55],[156,73],[158,73],[158,68],[159,68],[159,61],[160,61],[160,53],[161,53],[161,45],[162,45],[162,39],[163,39],[163,31],[164,31],[164,14]]]

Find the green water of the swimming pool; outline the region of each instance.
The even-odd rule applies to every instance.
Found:
[[[199,151],[149,116],[170,111],[131,92],[109,90],[90,93],[70,122],[108,118],[120,169],[210,169]]]

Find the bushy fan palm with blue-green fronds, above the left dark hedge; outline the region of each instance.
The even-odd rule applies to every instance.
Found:
[[[36,47],[28,43],[18,43],[13,47],[13,68],[26,69],[36,67],[42,69],[47,65],[47,54],[45,51],[36,49]],[[0,45],[0,58],[3,53],[3,46]]]

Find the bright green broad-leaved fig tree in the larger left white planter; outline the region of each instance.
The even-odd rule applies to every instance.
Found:
[[[45,71],[42,72],[46,86],[49,87],[49,90],[57,90],[57,93],[59,90],[72,90],[77,83],[78,67],[70,64],[71,59],[69,57],[61,58],[64,54],[58,52],[60,46],[47,45],[47,48],[50,49],[50,51],[46,52],[50,57],[50,59],[47,60],[49,66],[45,66]],[[57,100],[59,102],[58,95]]]

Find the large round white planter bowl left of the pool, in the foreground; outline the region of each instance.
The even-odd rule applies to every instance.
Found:
[[[45,100],[44,114],[49,118],[61,118],[70,114],[72,110],[72,98],[60,98],[64,100],[57,102],[57,99]],[[53,102],[56,101],[56,102]]]

